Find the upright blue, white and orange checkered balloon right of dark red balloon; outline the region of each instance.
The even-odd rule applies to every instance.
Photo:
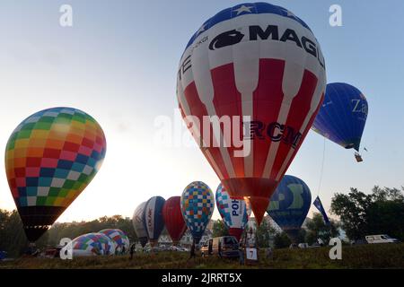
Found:
[[[214,210],[214,195],[205,183],[194,181],[185,187],[181,196],[181,212],[196,244],[202,238]]]

